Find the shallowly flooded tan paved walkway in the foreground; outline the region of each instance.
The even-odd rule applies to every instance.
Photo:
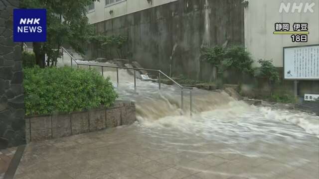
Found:
[[[14,179],[319,179],[315,137],[313,152],[259,141],[253,146],[272,156],[258,157],[220,152],[229,144],[213,140],[179,138],[154,137],[133,125],[31,143]]]

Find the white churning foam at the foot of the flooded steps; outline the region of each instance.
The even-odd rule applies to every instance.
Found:
[[[274,139],[294,139],[309,134],[319,138],[318,116],[270,107],[250,106],[241,101],[231,101],[213,110],[194,114],[192,118],[174,115],[151,120],[138,116],[138,120],[144,127],[170,128],[183,133],[204,136],[207,139],[219,139],[229,144],[239,141],[249,143],[255,140],[272,142]]]

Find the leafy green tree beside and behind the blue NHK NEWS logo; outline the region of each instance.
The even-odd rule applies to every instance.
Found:
[[[36,64],[41,68],[56,66],[60,48],[70,45],[83,53],[82,44],[93,30],[86,17],[87,6],[95,0],[21,0],[20,8],[47,9],[47,41],[33,42]],[[45,54],[47,61],[45,62]]]

